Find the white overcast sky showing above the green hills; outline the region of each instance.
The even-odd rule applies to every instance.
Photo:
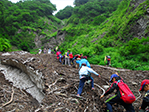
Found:
[[[16,2],[19,2],[20,0],[9,0],[13,3],[16,3]],[[74,7],[73,5],[73,2],[75,0],[50,0],[52,4],[55,4],[56,5],[56,9],[57,11],[55,11],[53,14],[56,14],[59,10],[62,10],[64,9],[66,6],[72,6]]]

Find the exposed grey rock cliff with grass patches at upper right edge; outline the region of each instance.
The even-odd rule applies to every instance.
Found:
[[[141,15],[138,19],[133,21],[134,23],[132,24],[131,21],[128,24],[130,25],[130,35],[133,37],[137,38],[142,38],[142,37],[149,37],[149,7],[147,2],[143,3],[147,0],[132,0],[130,3],[130,7],[133,7],[132,12],[143,11],[143,15]],[[141,4],[143,3],[143,4]],[[138,7],[138,8],[137,8]],[[140,9],[139,9],[140,8]],[[136,16],[134,16],[135,18]]]

